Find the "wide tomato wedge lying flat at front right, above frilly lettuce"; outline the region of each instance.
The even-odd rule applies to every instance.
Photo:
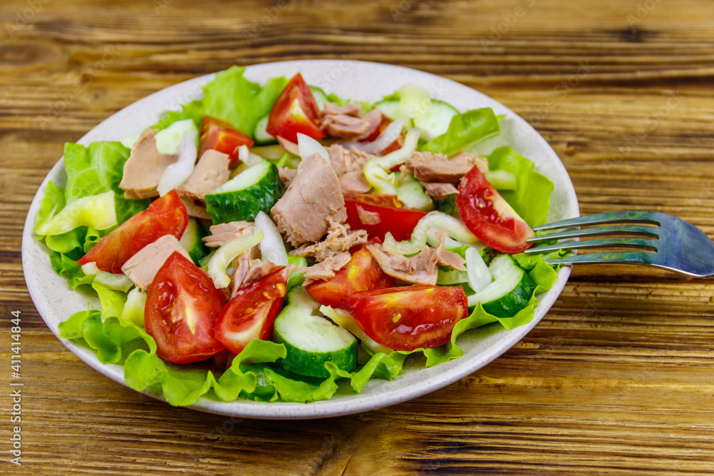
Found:
[[[461,286],[411,285],[353,294],[350,312],[377,343],[415,350],[446,344],[468,300]]]

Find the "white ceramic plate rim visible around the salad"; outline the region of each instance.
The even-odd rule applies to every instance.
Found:
[[[491,107],[496,114],[506,114],[501,123],[501,135],[485,141],[483,153],[490,153],[493,148],[510,145],[523,156],[535,162],[535,166],[555,183],[555,192],[551,196],[550,221],[578,216],[578,201],[573,184],[560,159],[548,146],[548,143],[522,118],[501,103],[462,84],[432,74],[401,68],[387,64],[367,63],[362,61],[311,60],[284,61],[280,63],[248,66],[246,77],[263,83],[273,76],[293,76],[300,71],[309,84],[320,86],[327,92],[339,96],[376,101],[392,93],[405,83],[418,83],[424,86],[432,98],[442,99],[453,104],[460,111],[469,108]],[[94,141],[116,141],[126,136],[139,133],[155,123],[163,111],[178,109],[181,103],[201,97],[202,86],[213,79],[213,74],[191,79],[176,86],[137,101],[89,131],[79,143],[88,145]],[[44,195],[48,181],[64,186],[63,161],[60,160],[50,171],[39,188],[25,223],[22,239],[22,265],[30,295],[37,310],[52,332],[87,365],[99,373],[124,383],[124,368],[120,365],[99,363],[91,350],[80,347],[69,340],[59,337],[58,325],[69,315],[79,310],[86,310],[86,297],[70,290],[65,280],[54,273],[49,263],[48,250],[37,242],[32,233],[35,218],[39,211],[39,202]],[[540,295],[540,305],[535,310],[535,319],[528,325],[514,330],[505,330],[498,325],[468,331],[461,335],[458,345],[465,350],[465,355],[449,363],[434,368],[424,368],[423,359],[407,360],[404,375],[392,382],[370,380],[359,395],[336,395],[332,400],[308,404],[285,402],[216,402],[201,399],[193,405],[196,410],[236,415],[241,417],[269,419],[319,418],[373,410],[388,405],[404,402],[426,393],[445,387],[469,375],[518,343],[543,318],[551,305],[560,295],[570,275],[570,268],[561,268],[553,289]],[[95,308],[99,308],[96,300]],[[148,394],[147,395],[151,395]],[[151,395],[156,397],[156,395]]]

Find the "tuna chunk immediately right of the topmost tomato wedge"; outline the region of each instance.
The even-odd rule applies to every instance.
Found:
[[[371,136],[381,121],[382,113],[378,109],[363,116],[362,106],[358,103],[340,107],[328,102],[322,111],[321,128],[333,137],[361,141]]]

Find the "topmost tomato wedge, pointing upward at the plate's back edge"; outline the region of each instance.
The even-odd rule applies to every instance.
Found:
[[[266,132],[271,136],[281,136],[297,142],[298,133],[313,139],[321,139],[326,134],[318,125],[320,113],[312,91],[298,73],[276,99],[268,115]]]

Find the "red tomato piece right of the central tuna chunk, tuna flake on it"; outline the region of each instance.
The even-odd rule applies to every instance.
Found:
[[[381,197],[381,198],[369,198]],[[348,196],[345,197],[345,208],[347,210],[347,223],[353,230],[366,230],[368,236],[384,239],[387,232],[391,233],[395,240],[402,241],[411,238],[416,224],[426,216],[426,212],[418,210],[408,210],[401,208],[401,203],[394,197],[389,204],[391,196]],[[375,203],[381,201],[381,203]],[[374,213],[375,215],[372,215]]]

